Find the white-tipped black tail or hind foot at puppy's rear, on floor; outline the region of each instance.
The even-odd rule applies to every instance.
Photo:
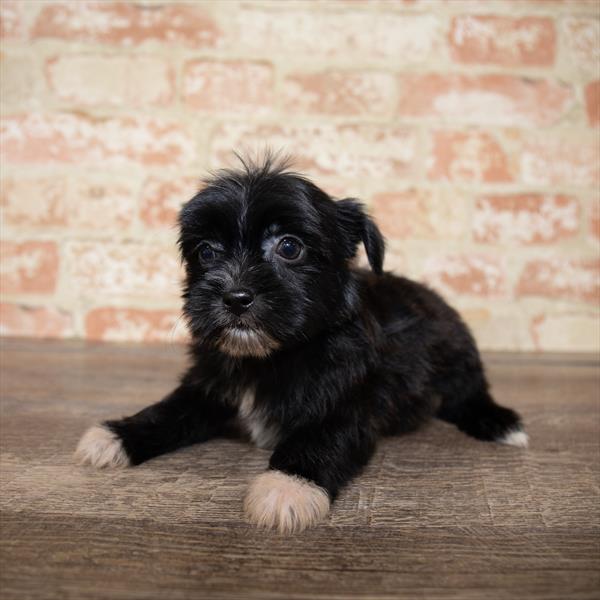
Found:
[[[437,417],[479,440],[520,448],[529,445],[521,417],[514,410],[496,404],[485,389],[467,399],[442,400]]]

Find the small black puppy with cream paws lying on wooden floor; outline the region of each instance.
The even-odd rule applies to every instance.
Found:
[[[82,462],[137,465],[237,422],[273,448],[248,519],[293,532],[327,515],[382,435],[439,417],[527,444],[458,314],[382,272],[383,238],[357,201],[267,159],[210,179],[180,226],[192,366],[161,402],[90,429]],[[351,266],[361,242],[373,272]]]

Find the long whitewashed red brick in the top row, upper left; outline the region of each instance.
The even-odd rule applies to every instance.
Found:
[[[196,3],[54,2],[43,6],[32,37],[134,46],[144,42],[206,48],[219,30]]]

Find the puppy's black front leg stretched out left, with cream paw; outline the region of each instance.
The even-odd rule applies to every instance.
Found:
[[[182,384],[160,402],[88,429],[75,452],[82,464],[123,467],[216,435],[232,409]]]

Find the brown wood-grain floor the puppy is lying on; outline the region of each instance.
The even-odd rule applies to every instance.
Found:
[[[96,421],[159,399],[178,346],[2,342],[0,597],[599,598],[599,369],[487,357],[531,448],[433,423],[385,440],[294,538],[241,501],[268,453],[219,440],[123,471],[76,466]]]

